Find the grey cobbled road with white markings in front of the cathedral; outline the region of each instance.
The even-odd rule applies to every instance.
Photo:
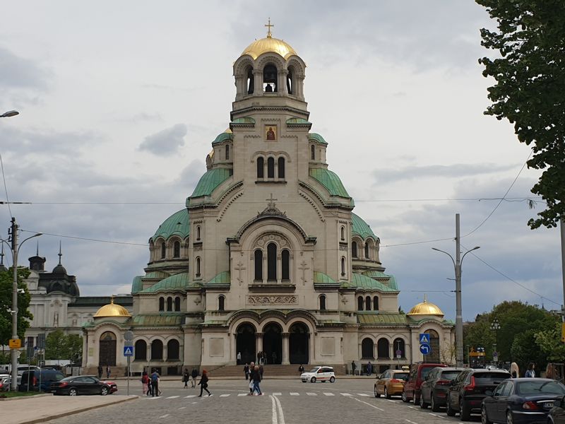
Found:
[[[241,380],[210,379],[212,396],[198,397],[199,389],[183,389],[182,382],[162,381],[162,396],[141,395],[141,383],[131,382],[135,401],[78,413],[49,423],[234,423],[234,424],[449,424],[460,423],[458,416],[444,411],[404,404],[400,398],[376,399],[371,379],[337,379],[335,383],[302,383],[299,379],[265,379],[263,396],[248,396]],[[125,394],[124,384],[119,393]],[[480,416],[472,416],[480,422]]]

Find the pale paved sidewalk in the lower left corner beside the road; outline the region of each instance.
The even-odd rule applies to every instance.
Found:
[[[1,401],[2,424],[44,423],[54,418],[88,411],[121,402],[133,401],[138,396],[109,394],[107,396],[31,396]]]

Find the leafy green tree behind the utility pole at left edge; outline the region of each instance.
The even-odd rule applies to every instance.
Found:
[[[24,278],[30,275],[30,270],[18,266],[18,289],[23,289],[23,293],[18,293],[18,336],[23,339],[25,331],[30,326],[28,320],[32,320],[30,313],[31,295],[28,286],[23,282]],[[8,340],[12,338],[12,314],[8,312],[12,307],[13,271],[0,271],[0,345],[8,345]]]

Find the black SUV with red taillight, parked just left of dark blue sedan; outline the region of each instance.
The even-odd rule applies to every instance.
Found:
[[[510,378],[506,370],[468,369],[460,373],[450,383],[447,394],[447,415],[452,417],[459,413],[462,421],[468,421],[472,413],[481,412],[482,399],[505,379]]]

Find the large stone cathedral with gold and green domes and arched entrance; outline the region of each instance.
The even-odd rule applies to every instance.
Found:
[[[131,314],[106,305],[83,327],[84,365],[125,366],[129,330],[134,372],[214,369],[260,351],[268,363],[386,369],[424,359],[422,332],[432,335],[427,360],[446,360],[453,324],[427,301],[399,311],[379,237],[328,168],[302,58],[269,31],[244,49],[233,76],[229,128],[212,141],[186,207],[150,237]]]

